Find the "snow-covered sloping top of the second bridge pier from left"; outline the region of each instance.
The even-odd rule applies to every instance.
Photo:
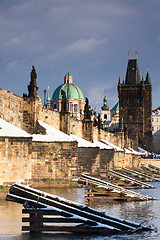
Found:
[[[38,123],[45,128],[46,134],[33,134],[33,141],[36,142],[73,142],[75,141],[71,136],[51,127],[50,125],[38,120]]]

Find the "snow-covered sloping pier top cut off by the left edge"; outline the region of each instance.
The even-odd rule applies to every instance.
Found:
[[[31,137],[30,134],[0,118],[1,137]]]

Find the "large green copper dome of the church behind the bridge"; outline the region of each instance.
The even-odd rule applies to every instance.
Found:
[[[52,100],[62,99],[61,90],[65,91],[67,99],[84,100],[81,89],[73,83],[65,83],[57,87],[53,93]]]

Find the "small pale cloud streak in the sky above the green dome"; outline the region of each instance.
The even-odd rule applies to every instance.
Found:
[[[95,38],[90,39],[79,39],[76,42],[67,46],[67,51],[76,51],[76,52],[88,52],[93,51],[100,45],[107,43],[107,39],[97,40]]]

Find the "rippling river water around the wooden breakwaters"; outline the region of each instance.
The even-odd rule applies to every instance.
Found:
[[[152,183],[154,189],[138,189],[137,192],[156,197],[154,201],[144,202],[107,202],[94,201],[91,207],[105,211],[107,214],[126,220],[151,225],[156,228],[151,232],[122,234],[112,236],[76,236],[76,235],[30,235],[22,233],[22,206],[20,204],[0,200],[0,240],[160,240],[160,182]],[[54,188],[43,189],[58,196],[65,197],[78,203],[85,203],[83,188]],[[24,223],[23,223],[24,225]]]

